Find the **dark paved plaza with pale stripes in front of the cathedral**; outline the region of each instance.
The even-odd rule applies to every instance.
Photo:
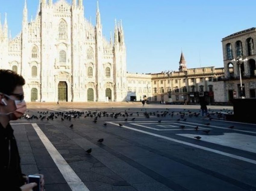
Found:
[[[23,173],[44,174],[47,191],[256,190],[256,125],[199,108],[29,104],[12,127]]]

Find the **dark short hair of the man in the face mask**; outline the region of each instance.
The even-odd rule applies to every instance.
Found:
[[[11,70],[0,70],[0,92],[10,95],[17,86],[24,86],[24,78]]]

